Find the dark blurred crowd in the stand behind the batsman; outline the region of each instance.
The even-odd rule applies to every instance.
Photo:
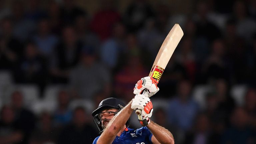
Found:
[[[92,143],[91,112],[134,97],[175,23],[152,120],[176,144],[256,144],[255,0],[0,0],[0,144]]]

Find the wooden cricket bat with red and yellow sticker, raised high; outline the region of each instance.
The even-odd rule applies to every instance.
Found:
[[[149,73],[149,77],[153,77],[157,82],[159,82],[164,69],[169,62],[174,50],[179,44],[183,36],[183,31],[179,24],[175,24],[171,31],[166,36],[161,48],[158,51],[154,64]],[[147,92],[145,94],[148,94]],[[148,95],[147,95],[148,96]],[[136,114],[140,115],[141,110],[137,109]]]

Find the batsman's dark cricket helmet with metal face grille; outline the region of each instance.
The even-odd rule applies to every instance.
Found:
[[[102,111],[105,109],[117,109],[118,111],[115,112],[115,114],[117,114],[121,109],[124,108],[124,106],[125,104],[121,100],[116,98],[107,98],[100,102],[98,108],[92,112],[93,121],[97,125],[100,133],[103,132],[104,130],[104,128],[102,127],[101,118],[99,116],[102,113]],[[130,124],[130,118],[125,124],[126,127],[128,127],[129,124]]]

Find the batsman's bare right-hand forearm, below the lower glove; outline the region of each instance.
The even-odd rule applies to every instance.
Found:
[[[147,128],[151,131],[154,137],[161,144],[174,144],[174,138],[172,133],[164,127],[159,126],[158,124],[151,121]]]

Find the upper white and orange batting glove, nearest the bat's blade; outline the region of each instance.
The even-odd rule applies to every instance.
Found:
[[[135,85],[133,89],[134,94],[143,94],[145,96],[151,97],[159,91],[157,87],[158,82],[149,76],[141,78]],[[147,90],[147,91],[144,91]]]

